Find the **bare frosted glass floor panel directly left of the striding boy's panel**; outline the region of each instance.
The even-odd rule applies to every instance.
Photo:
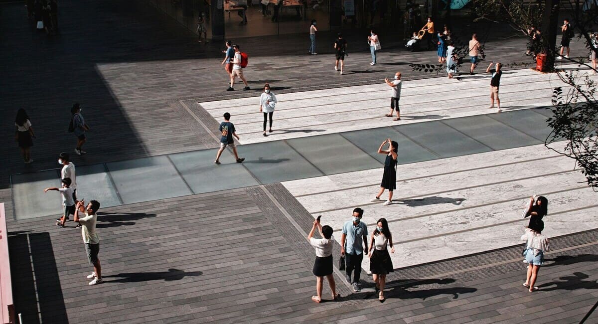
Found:
[[[106,166],[124,204],[192,194],[166,155]]]

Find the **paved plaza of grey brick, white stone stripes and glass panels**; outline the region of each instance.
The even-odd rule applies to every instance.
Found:
[[[392,33],[380,65],[367,66],[367,48],[356,49],[345,75],[334,73],[331,50],[303,55],[305,35],[269,39],[289,42],[269,55],[258,38],[243,39],[252,90],[230,93],[221,45],[197,44],[144,4],[60,4],[72,19],[61,20],[57,38],[30,28],[22,4],[0,5],[0,114],[10,121],[0,139],[0,202],[23,323],[577,323],[598,299],[596,193],[573,160],[544,145],[552,89],[562,83],[525,66],[505,69],[503,111],[488,109],[483,69],[529,61],[524,39],[484,33],[487,61],[458,80],[411,71],[408,63],[434,63],[435,52],[408,53]],[[585,55],[582,48],[572,51]],[[383,117],[390,90],[382,80],[395,71],[404,73],[401,121]],[[279,101],[267,137],[264,82]],[[66,132],[75,101],[92,126],[81,157]],[[8,127],[21,107],[38,135],[27,165]],[[242,164],[229,151],[213,164],[224,112]],[[399,143],[399,165],[392,204],[383,206],[370,200],[383,172],[376,151],[388,137]],[[101,285],[87,286],[80,230],[53,225],[61,201],[42,191],[59,185],[61,151],[77,165],[79,197],[102,204]],[[543,234],[551,251],[541,290],[530,293],[519,238],[533,194],[550,202]],[[370,230],[387,218],[395,237],[387,299],[377,300],[368,258],[362,291],[353,292],[335,243],[341,297],[315,304],[307,233],[322,215],[338,242],[355,207]]]

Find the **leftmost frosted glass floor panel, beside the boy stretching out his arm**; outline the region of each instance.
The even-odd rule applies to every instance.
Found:
[[[14,211],[17,219],[29,219],[40,216],[62,216],[62,195],[58,191],[48,191],[48,187],[60,188],[58,170],[24,173],[11,176],[13,184]],[[56,219],[53,218],[53,219]],[[52,225],[52,218],[48,224]]]

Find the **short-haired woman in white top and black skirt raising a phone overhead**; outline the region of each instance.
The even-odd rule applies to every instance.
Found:
[[[314,239],[313,233],[318,228],[320,235],[324,239]],[[322,285],[324,285],[324,277],[328,279],[328,285],[332,291],[332,299],[337,299],[338,294],[336,292],[336,284],[334,277],[332,276],[332,248],[334,247],[334,236],[332,236],[332,227],[328,225],[320,225],[318,220],[313,222],[312,231],[309,232],[307,240],[316,249],[316,262],[313,264],[313,274],[315,274],[316,292],[318,296],[312,296],[312,300],[315,302],[322,301]]]

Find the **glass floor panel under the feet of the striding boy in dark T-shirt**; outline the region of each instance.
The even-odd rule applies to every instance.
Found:
[[[242,164],[235,162],[228,149],[222,152],[222,164],[214,164],[216,152],[218,149],[208,149],[170,154],[169,157],[196,194],[260,184]]]

